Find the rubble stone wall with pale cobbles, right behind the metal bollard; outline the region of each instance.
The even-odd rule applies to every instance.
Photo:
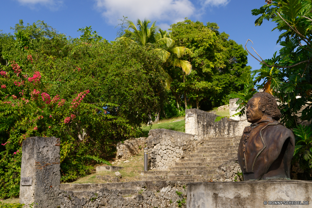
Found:
[[[147,138],[149,169],[168,170],[179,159],[194,151],[197,136],[168,129],[152,129]]]

